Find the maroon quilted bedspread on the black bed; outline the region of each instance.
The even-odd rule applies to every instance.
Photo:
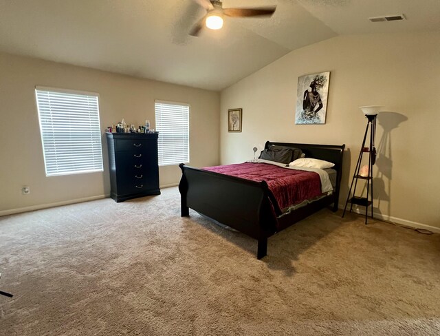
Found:
[[[256,182],[266,181],[282,211],[304,200],[321,194],[318,174],[269,165],[266,163],[238,163],[203,168],[216,173],[236,176]]]

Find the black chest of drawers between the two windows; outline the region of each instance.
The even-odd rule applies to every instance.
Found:
[[[157,133],[107,133],[111,198],[159,195]]]

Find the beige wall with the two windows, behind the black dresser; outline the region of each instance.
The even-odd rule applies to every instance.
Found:
[[[0,54],[0,215],[18,209],[102,197],[110,193],[107,143],[102,138],[104,172],[45,176],[34,87],[60,87],[100,94],[102,132],[125,118],[155,128],[154,101],[190,104],[190,165],[219,163],[218,92],[149,81],[59,63]],[[177,165],[160,167],[160,185],[179,182]],[[29,185],[30,195],[21,195]]]

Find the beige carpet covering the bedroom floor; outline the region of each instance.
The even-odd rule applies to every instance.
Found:
[[[0,335],[440,335],[440,235],[324,209],[256,241],[177,188],[0,218]]]

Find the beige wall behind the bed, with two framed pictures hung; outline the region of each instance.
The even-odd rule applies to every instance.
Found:
[[[331,72],[327,122],[294,125],[298,76],[325,71]],[[377,120],[375,212],[440,229],[439,90],[439,32],[339,36],[301,48],[222,92],[221,164],[252,158],[252,147],[261,150],[266,140],[345,143],[344,204],[366,127],[358,107],[384,105],[387,113]],[[238,107],[243,132],[228,133],[228,109]]]

